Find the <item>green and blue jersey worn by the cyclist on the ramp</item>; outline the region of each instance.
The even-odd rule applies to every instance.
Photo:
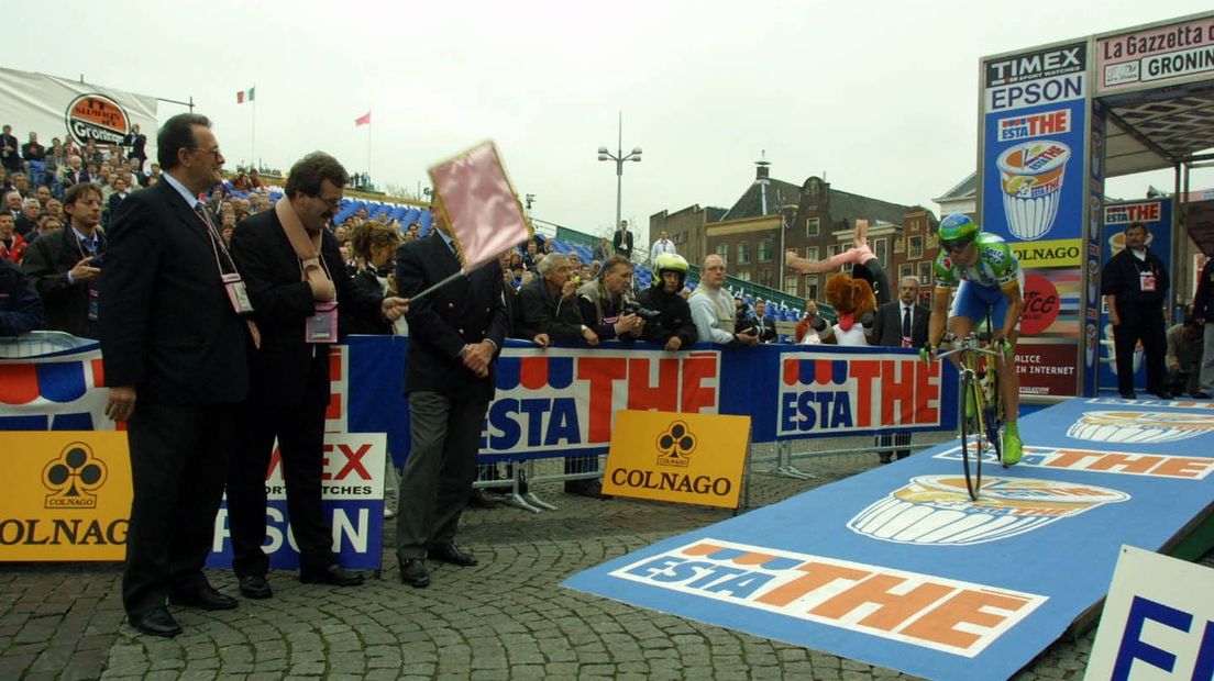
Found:
[[[966,316],[978,324],[991,314],[991,324],[999,328],[1008,313],[1004,291],[1025,290],[1025,271],[1011,252],[1011,246],[994,234],[981,233],[975,246],[977,261],[970,267],[958,264],[948,251],[936,256],[936,292],[957,286],[957,299],[949,316]]]

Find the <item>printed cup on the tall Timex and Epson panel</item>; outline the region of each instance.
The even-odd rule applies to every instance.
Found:
[[[1040,239],[1054,225],[1071,148],[1061,142],[1025,142],[999,154],[1003,210],[1008,229],[1025,240]]]

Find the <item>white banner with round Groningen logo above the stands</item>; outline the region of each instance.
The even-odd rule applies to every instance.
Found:
[[[0,69],[0,120],[22,143],[36,132],[47,148],[55,137],[119,144],[132,125],[146,135],[159,125],[155,97],[13,69]]]

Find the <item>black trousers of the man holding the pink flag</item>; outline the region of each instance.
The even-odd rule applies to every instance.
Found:
[[[266,469],[274,439],[287,483],[287,513],[300,550],[300,566],[324,568],[335,562],[333,532],[320,510],[320,473],[327,405],[305,401],[278,406],[245,402],[237,413],[237,450],[227,479],[232,571],[265,574]]]

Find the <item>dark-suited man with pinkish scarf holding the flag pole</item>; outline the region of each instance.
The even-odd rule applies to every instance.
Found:
[[[272,595],[266,571],[266,468],[274,439],[283,457],[287,510],[300,551],[300,580],[353,586],[363,577],[337,565],[320,509],[329,344],[337,308],[358,316],[401,316],[405,301],[370,293],[346,276],[337,240],[324,229],[348,176],[313,151],[290,171],[285,198],[232,233],[232,258],[245,277],[261,348],[249,348],[249,399],[237,410],[237,452],[227,480],[232,570],[240,593]],[[478,429],[480,430],[480,429]]]

